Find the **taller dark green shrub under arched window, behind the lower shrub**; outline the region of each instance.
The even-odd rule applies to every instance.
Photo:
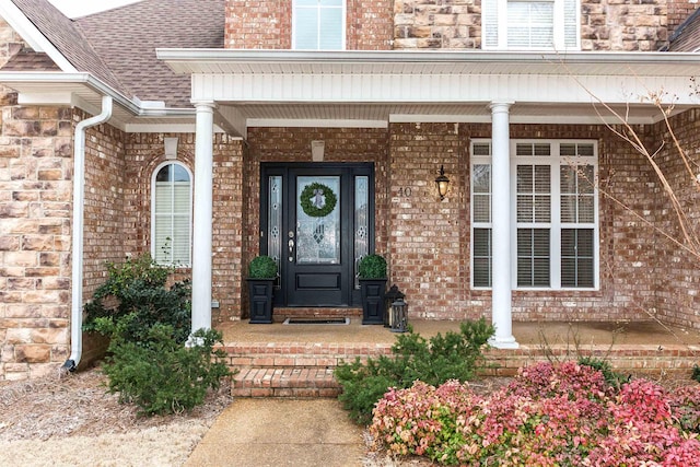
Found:
[[[129,328],[122,330],[128,340],[144,340],[153,325],[167,324],[173,327],[175,339],[185,342],[191,327],[191,288],[189,282],[176,282],[166,289],[171,271],[153,262],[148,254],[122,264],[108,262],[107,281],[85,304],[83,329],[109,334],[96,325],[98,318],[116,322],[133,315],[128,320]]]

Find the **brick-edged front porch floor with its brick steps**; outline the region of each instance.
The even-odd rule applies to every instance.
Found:
[[[423,337],[458,331],[458,322],[411,320]],[[363,326],[359,317],[348,325],[250,325],[247,320],[218,326],[223,332],[237,397],[335,397],[336,365],[355,357],[389,354],[396,334],[383,326]],[[594,355],[614,369],[653,377],[689,378],[700,354],[698,330],[641,323],[513,323],[518,349],[489,349],[488,375],[513,375],[517,367],[549,359]]]

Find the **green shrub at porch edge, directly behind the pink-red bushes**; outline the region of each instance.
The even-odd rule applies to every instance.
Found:
[[[339,399],[350,418],[368,424],[374,405],[389,387],[410,387],[417,380],[433,386],[448,380],[472,380],[483,363],[482,348],[494,329],[483,318],[462,323],[459,328],[460,332],[439,334],[430,340],[411,330],[397,337],[392,357],[371,358],[366,363],[359,358],[341,362],[335,376],[342,386]]]

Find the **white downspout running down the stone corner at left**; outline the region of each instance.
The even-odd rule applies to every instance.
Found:
[[[112,117],[113,100],[102,97],[102,113],[75,125],[73,143],[73,247],[71,253],[71,353],[61,369],[75,371],[83,354],[83,218],[85,201],[85,131]]]

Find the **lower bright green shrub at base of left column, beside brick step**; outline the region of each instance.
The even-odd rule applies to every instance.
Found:
[[[103,366],[109,377],[109,392],[119,393],[121,402],[132,402],[139,415],[165,415],[190,410],[205,400],[207,389],[218,389],[221,378],[231,375],[223,362],[225,352],[214,350],[222,336],[215,330],[196,331],[192,347],[175,338],[170,325],[156,324],[144,332],[145,340],[125,338],[136,315],[112,325],[112,355]],[[104,324],[105,322],[103,322]]]

